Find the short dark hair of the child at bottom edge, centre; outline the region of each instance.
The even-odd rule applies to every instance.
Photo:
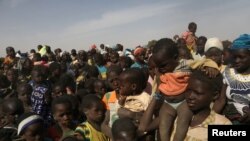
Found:
[[[129,118],[119,118],[117,119],[111,128],[112,136],[116,139],[121,139],[122,133],[127,133],[129,136],[136,138],[136,126],[134,125],[133,121]]]

